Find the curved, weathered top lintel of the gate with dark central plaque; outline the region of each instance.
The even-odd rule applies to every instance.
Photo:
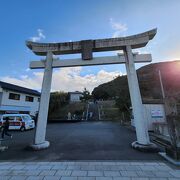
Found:
[[[82,40],[63,43],[37,43],[26,41],[26,45],[36,55],[46,56],[51,51],[54,55],[82,53],[82,59],[92,59],[92,52],[123,50],[127,45],[132,49],[146,46],[156,35],[157,29],[144,33],[118,38]]]

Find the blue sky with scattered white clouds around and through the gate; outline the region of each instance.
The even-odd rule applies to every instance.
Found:
[[[0,79],[4,81],[40,89],[42,71],[29,70],[28,66],[30,60],[41,57],[27,49],[28,39],[65,42],[127,36],[157,28],[156,37],[141,52],[151,53],[153,62],[180,59],[179,0],[1,0],[0,3]],[[53,81],[60,80],[53,82],[52,90],[81,90],[84,86],[92,90],[118,73],[126,73],[124,65],[57,69]]]

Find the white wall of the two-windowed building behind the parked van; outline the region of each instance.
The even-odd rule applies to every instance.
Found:
[[[20,100],[9,99],[9,93],[20,94]],[[25,101],[26,96],[34,97],[34,101],[33,102]],[[35,115],[36,111],[38,111],[38,109],[39,109],[38,98],[39,98],[39,96],[24,94],[24,93],[18,93],[15,91],[3,89],[1,106],[6,105],[6,106],[29,107],[30,108],[30,114]]]

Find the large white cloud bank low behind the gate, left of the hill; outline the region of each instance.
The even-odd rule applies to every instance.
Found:
[[[100,70],[97,74],[87,74],[81,76],[82,67],[71,67],[55,70],[53,72],[51,91],[82,91],[86,87],[92,91],[94,87],[111,81],[115,77],[122,75],[122,73],[107,72]],[[1,77],[0,79],[5,82],[24,86],[32,89],[41,89],[43,72],[33,73],[33,76],[23,75],[20,78]]]

